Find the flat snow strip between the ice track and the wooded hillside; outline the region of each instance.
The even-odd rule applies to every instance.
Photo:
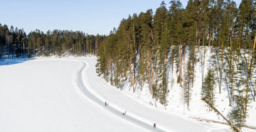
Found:
[[[219,125],[215,123],[199,122],[188,119],[187,116],[155,109],[145,105],[145,101],[135,96],[126,96],[127,91],[120,92],[116,88],[106,84],[104,80],[95,75],[96,58],[79,59],[89,63],[88,69],[85,71],[85,84],[90,88],[96,96],[102,100],[110,102],[110,104],[120,111],[127,111],[127,114],[139,118],[148,123],[157,123],[157,126],[163,129],[175,132],[205,132],[205,131],[227,131],[229,126]],[[124,95],[125,94],[125,95]],[[221,126],[221,127],[220,127]]]

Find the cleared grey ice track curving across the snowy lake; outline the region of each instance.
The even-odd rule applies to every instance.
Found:
[[[89,97],[91,100],[93,100],[94,102],[96,102],[97,104],[99,104],[100,106],[104,107],[105,109],[107,109],[108,111],[114,113],[117,116],[120,116],[130,122],[133,122],[141,127],[144,127],[152,132],[165,132],[162,129],[154,129],[152,125],[149,125],[141,120],[136,119],[135,117],[129,116],[129,115],[122,115],[122,112],[120,112],[119,110],[111,107],[110,105],[105,106],[104,102],[101,101],[98,97],[96,97],[94,94],[92,94],[84,85],[83,83],[83,76],[82,76],[82,71],[85,69],[86,67],[86,63],[83,61],[79,61],[83,63],[83,66],[78,70],[77,75],[76,75],[76,80],[77,80],[77,85],[78,87],[81,89],[81,91],[87,96]]]

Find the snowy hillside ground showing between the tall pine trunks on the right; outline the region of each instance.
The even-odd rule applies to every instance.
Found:
[[[213,68],[214,65],[218,65],[216,63],[219,63],[220,65],[220,60],[219,62],[215,62],[212,60],[211,56],[214,55],[215,53],[211,53],[211,49],[206,47],[206,53],[205,53],[205,65],[204,65],[204,76],[207,74],[207,70],[209,68]],[[187,109],[187,106],[184,103],[183,100],[183,88],[180,86],[179,83],[177,83],[177,73],[176,70],[174,69],[173,74],[171,74],[171,66],[169,66],[168,71],[168,90],[170,90],[169,95],[168,95],[168,105],[163,106],[160,104],[158,101],[156,101],[154,98],[152,98],[151,91],[149,89],[149,86],[147,82],[143,84],[143,87],[140,88],[135,82],[135,93],[133,93],[132,90],[132,83],[125,83],[122,91],[120,91],[119,88],[116,88],[115,94],[120,94],[119,96],[126,95],[130,97],[132,100],[131,102],[138,102],[139,104],[144,105],[145,107],[150,107],[154,108],[156,110],[162,111],[164,113],[172,113],[172,114],[177,114],[179,116],[183,116],[186,118],[189,117],[196,117],[196,118],[201,118],[201,119],[208,119],[208,120],[215,120],[215,121],[220,121],[220,122],[226,122],[219,114],[211,110],[207,104],[201,100],[201,86],[202,86],[202,71],[203,71],[203,47],[200,47],[200,52],[196,53],[196,56],[198,56],[198,62],[195,65],[195,81],[194,85],[192,87],[192,101],[190,102],[190,108]],[[183,58],[183,57],[182,57]],[[188,59],[188,52],[186,53],[185,57],[185,62],[187,62]],[[216,59],[217,61],[217,59]],[[176,64],[174,64],[176,65]],[[132,65],[131,65],[132,66]],[[225,68],[225,66],[223,65]],[[223,69],[224,69],[223,68]],[[185,69],[185,66],[183,66],[183,70]],[[215,69],[214,69],[215,70]],[[184,71],[183,71],[184,72]],[[128,73],[129,76],[129,73]],[[215,87],[215,105],[214,107],[217,108],[217,110],[224,115],[226,118],[228,117],[228,113],[230,112],[230,109],[232,109],[231,106],[229,106],[229,97],[230,97],[230,88],[228,88],[229,83],[228,77],[226,77],[225,73],[223,72],[223,78],[222,78],[222,92],[218,93],[219,90],[219,78],[220,78],[220,73],[219,71],[215,71],[215,76],[217,77],[216,80],[216,87]],[[239,75],[237,75],[239,76]],[[246,78],[246,75],[245,77]],[[101,79],[102,80],[102,79]],[[131,78],[129,78],[131,80]],[[173,82],[172,82],[173,80]],[[105,81],[104,81],[105,82]],[[131,82],[131,81],[130,81]],[[102,82],[103,83],[103,82]],[[173,83],[173,86],[172,86]],[[253,101],[253,87],[254,87],[254,82],[252,82],[252,87],[251,90],[252,92],[249,93],[249,100],[250,102],[250,107],[248,109],[248,117],[246,118],[246,125],[248,126],[253,126],[256,127],[255,125],[255,118],[256,118],[256,103]],[[108,82],[108,87],[109,89],[114,88],[111,86],[110,82]],[[237,89],[237,87],[234,86],[234,89]],[[101,94],[104,94],[104,92],[101,92],[98,90]],[[114,92],[114,91],[112,91]],[[238,94],[235,92],[234,94]],[[113,101],[113,100],[112,100]],[[156,104],[155,104],[156,102]],[[233,104],[234,105],[234,104]],[[157,106],[157,107],[156,107]],[[247,129],[243,128],[242,131],[255,131],[253,129]]]

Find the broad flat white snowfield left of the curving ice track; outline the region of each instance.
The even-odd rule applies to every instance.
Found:
[[[75,79],[81,65],[30,60],[0,66],[0,131],[148,131],[84,96]]]

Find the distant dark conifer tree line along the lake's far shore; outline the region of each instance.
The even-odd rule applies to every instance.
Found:
[[[28,35],[22,29],[0,24],[0,60],[13,57],[95,55],[105,35],[88,35],[80,31],[35,30]]]

